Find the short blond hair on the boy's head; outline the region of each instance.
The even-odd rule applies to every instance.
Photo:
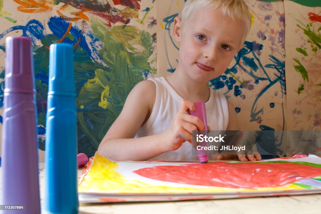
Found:
[[[245,35],[243,35],[241,44],[244,43],[252,22],[250,11],[244,0],[187,0],[181,13],[182,30],[192,15],[203,7],[211,7],[213,10],[220,8],[223,15],[234,21],[243,21],[245,23]]]

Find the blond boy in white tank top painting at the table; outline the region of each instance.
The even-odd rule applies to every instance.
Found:
[[[212,130],[237,130],[236,113],[208,82],[225,72],[244,47],[251,17],[243,0],[188,0],[173,38],[180,43],[178,65],[168,76],[138,83],[101,141],[98,153],[113,160],[198,160],[192,155],[192,131],[205,130],[188,114],[204,101]],[[260,155],[238,155],[241,161]],[[216,155],[214,159],[230,159]]]

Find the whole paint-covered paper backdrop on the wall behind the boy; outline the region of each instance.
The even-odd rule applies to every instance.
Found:
[[[92,156],[134,85],[175,71],[179,45],[172,39],[172,23],[185,1],[0,0],[0,115],[5,38],[28,36],[34,44],[39,149],[44,150],[48,47],[70,43],[78,150]],[[320,130],[321,5],[246,2],[252,28],[245,48],[209,86],[234,104],[242,129]]]

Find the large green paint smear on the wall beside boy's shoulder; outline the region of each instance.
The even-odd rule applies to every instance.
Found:
[[[86,77],[76,98],[76,107],[78,133],[85,136],[78,141],[78,146],[88,147],[90,142],[94,153],[120,114],[129,92],[143,80],[142,72],[151,70],[152,36],[135,26],[108,28],[97,19],[91,20],[91,28],[94,36],[105,45],[99,55],[107,67],[88,68],[94,72]],[[102,99],[107,101],[106,108],[98,105]]]

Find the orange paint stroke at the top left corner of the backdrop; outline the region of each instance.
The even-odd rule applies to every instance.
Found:
[[[24,13],[43,13],[52,11],[52,7],[46,5],[46,1],[43,1],[43,3],[39,3],[34,0],[13,0],[15,3],[20,4],[17,9],[18,11],[24,12]]]

